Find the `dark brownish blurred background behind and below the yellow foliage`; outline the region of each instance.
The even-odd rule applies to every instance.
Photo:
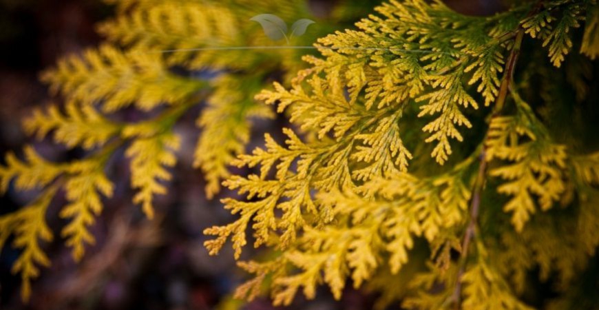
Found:
[[[326,17],[326,12],[335,6],[333,0],[311,2],[319,17]],[[372,7],[379,3],[371,2]],[[497,3],[448,1],[448,5],[465,14],[492,14],[500,10]],[[32,107],[57,100],[39,83],[39,72],[63,55],[98,45],[101,37],[94,25],[113,13],[114,8],[100,0],[0,0],[1,154],[9,150],[19,154],[23,145],[35,143],[36,149],[53,161],[83,156],[78,149],[32,141],[23,134],[20,121]],[[269,300],[250,304],[232,300],[230,293],[242,282],[244,273],[235,267],[229,247],[220,256],[209,257],[202,246],[202,230],[227,223],[231,215],[222,208],[218,197],[204,197],[200,172],[189,169],[198,136],[193,125],[197,114],[198,111],[182,120],[177,128],[183,137],[180,161],[169,194],[157,196],[155,220],[147,220],[140,208],[132,205],[127,163],[115,161],[108,172],[116,182],[114,198],[106,202],[103,214],[92,227],[96,245],[89,247],[83,261],[76,264],[70,250],[56,237],[45,249],[52,266],[42,269],[41,277],[34,281],[28,304],[19,297],[19,276],[10,273],[19,252],[5,247],[0,255],[0,309],[275,309]],[[262,132],[280,127],[283,121],[258,124],[254,133],[257,138],[250,147],[260,143]],[[224,192],[220,196],[230,194]],[[30,195],[9,192],[1,198],[0,214],[14,211],[31,200]],[[48,212],[48,223],[55,236],[60,236],[59,230],[65,224],[57,216],[61,205],[64,201],[56,201],[54,209]],[[368,293],[351,289],[344,293],[341,302],[334,302],[326,289],[317,296],[310,302],[297,298],[286,309],[370,309],[374,300]]]

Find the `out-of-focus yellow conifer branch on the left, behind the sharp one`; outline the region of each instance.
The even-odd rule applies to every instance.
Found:
[[[116,17],[98,26],[106,42],[65,56],[43,72],[41,80],[61,99],[23,121],[27,134],[39,140],[48,136],[85,155],[54,163],[28,145],[23,160],[11,152],[0,167],[2,192],[39,192],[28,207],[0,216],[0,247],[14,235],[14,246],[22,250],[13,270],[21,273],[25,300],[30,297],[30,280],[39,275],[36,266],[50,264],[41,242],[52,235],[45,224],[52,198],[64,193],[67,203],[59,216],[68,223],[61,236],[74,260],[81,260],[86,246],[95,242],[90,227],[114,192],[107,165],[123,149],[132,203],[152,218],[155,198],[167,193],[173,177],[169,168],[177,163],[181,138],[174,130],[176,123],[204,102],[193,166],[207,180],[207,196],[218,194],[221,181],[230,175],[231,161],[249,142],[252,120],[273,117],[253,96],[280,72],[288,83],[302,65],[300,52],[259,48],[277,43],[268,41],[249,19],[264,12],[276,12],[286,20],[316,19],[305,0],[107,3],[116,7]],[[333,12],[339,17],[335,23],[322,21],[322,28],[311,28],[293,43],[306,45],[330,29],[350,25],[359,8],[341,1]],[[258,48],[235,49],[244,46]]]

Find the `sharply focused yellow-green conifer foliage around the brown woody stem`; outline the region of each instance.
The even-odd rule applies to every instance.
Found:
[[[575,94],[597,64],[585,60],[572,85],[556,76],[573,76],[574,48],[596,56],[596,7],[531,1],[468,17],[440,1],[390,1],[357,30],[319,39],[321,56],[304,57],[291,87],[255,97],[295,129],[238,156],[253,173],[224,185],[246,199],[222,200],[238,218],[204,231],[210,254],[230,238],[240,258],[248,229],[255,247],[277,250],[240,262],[255,278],[236,296],[268,287],[286,305],[324,284],[339,299],[351,280],[382,291],[381,309],[399,299],[410,309],[530,309],[519,298],[536,267],[567,296],[598,245],[596,137],[594,148],[576,137],[593,131],[597,112],[584,103],[598,94]],[[534,92],[541,72],[559,96]],[[564,139],[549,123],[567,117],[551,112],[573,96],[569,110],[591,114],[559,127]],[[403,272],[412,259],[426,263]],[[381,285],[390,275],[399,280]],[[400,281],[401,293],[386,293]]]

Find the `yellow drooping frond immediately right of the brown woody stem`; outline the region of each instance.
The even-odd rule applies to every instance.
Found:
[[[491,170],[491,176],[505,180],[497,192],[512,198],[503,207],[512,212],[512,223],[522,231],[538,204],[543,211],[551,208],[565,192],[566,147],[552,143],[530,107],[514,97],[519,105],[516,116],[494,118],[487,141],[487,160],[499,158],[511,162]]]

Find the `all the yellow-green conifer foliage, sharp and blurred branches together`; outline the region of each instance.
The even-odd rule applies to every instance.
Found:
[[[112,196],[109,158],[125,149],[132,202],[151,218],[173,177],[174,126],[206,101],[193,165],[210,198],[222,180],[240,196],[222,199],[237,218],[205,229],[204,245],[216,255],[231,240],[236,260],[248,242],[273,250],[238,263],[253,275],[238,298],[288,305],[326,285],[338,300],[351,284],[380,293],[379,309],[531,309],[525,291],[540,280],[555,289],[552,307],[580,299],[576,281],[599,245],[595,0],[519,1],[489,17],[390,0],[356,28],[330,34],[337,25],[319,21],[293,39],[321,38],[305,63],[305,51],[269,49],[277,43],[244,23],[310,17],[306,1],[109,2],[117,17],[98,27],[107,43],[42,76],[64,108],[23,122],[87,155],[53,163],[29,146],[0,168],[4,192],[12,180],[41,192],[0,216],[0,246],[14,234],[23,250],[24,298],[50,263],[40,241],[52,237],[44,219],[56,191],[79,260]],[[349,1],[338,8],[352,15]],[[284,141],[267,133],[245,154],[252,119],[273,118],[273,106],[291,123]],[[124,121],[125,109],[142,120]]]

